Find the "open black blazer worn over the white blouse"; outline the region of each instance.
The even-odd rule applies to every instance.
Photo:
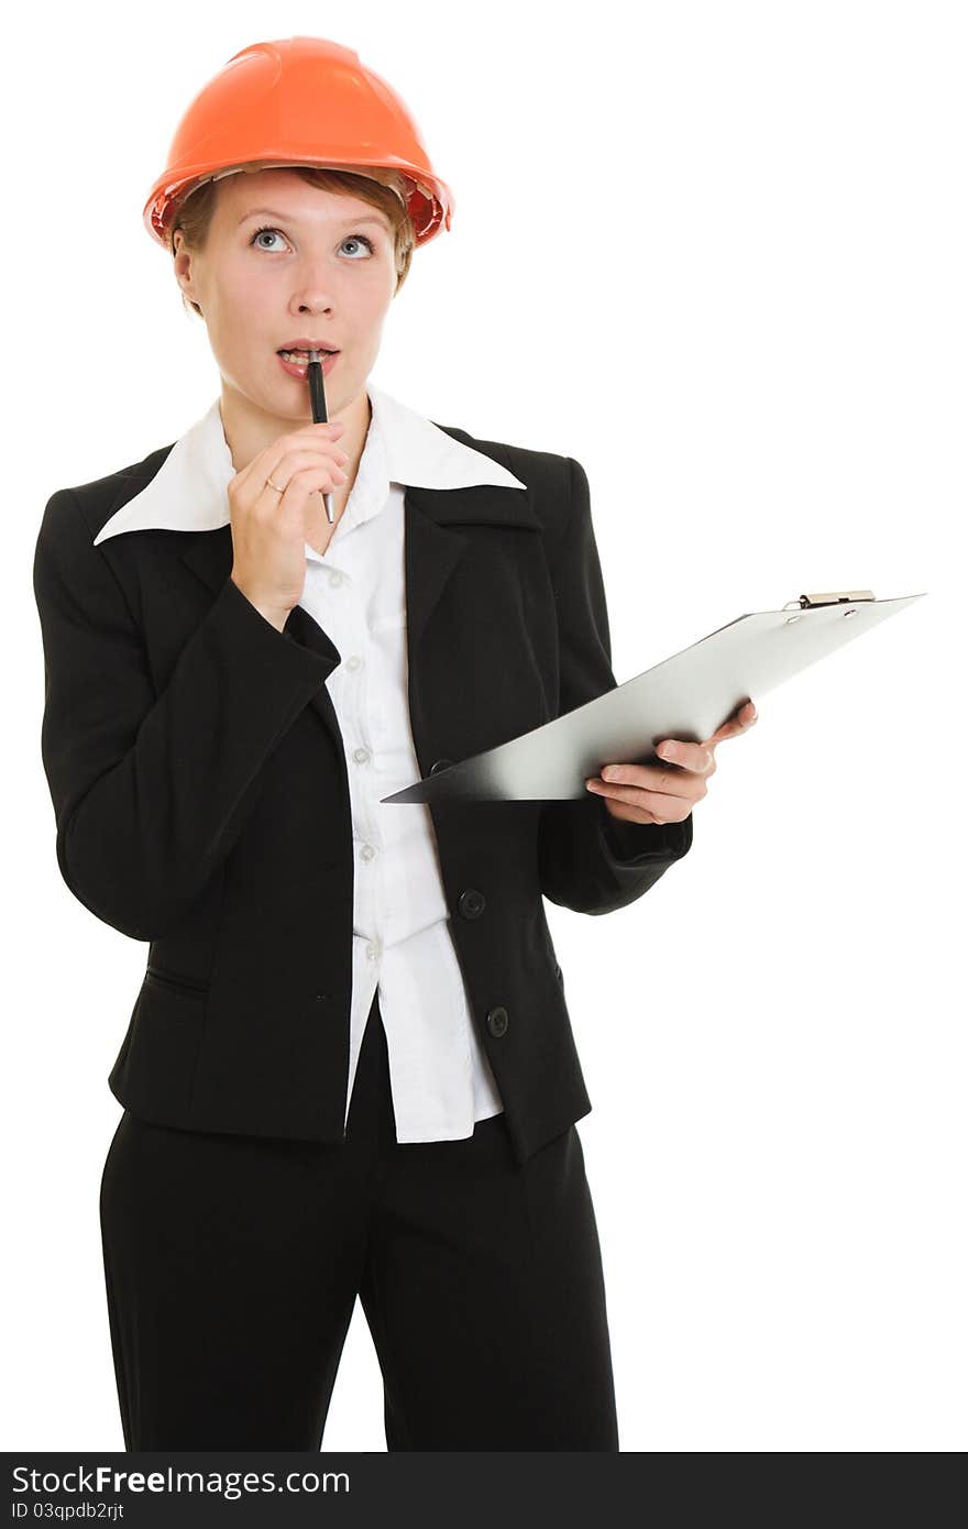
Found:
[[[616,683],[572,457],[439,427],[528,485],[405,489],[410,720],[421,772]],[[338,1142],[353,842],[324,683],[339,653],[297,605],[280,633],[229,578],[231,526],[93,546],[171,445],[58,489],[34,560],[57,858],[98,919],[148,942],[110,1089],[165,1125]],[[622,908],[681,859],[681,824],[604,801],[431,807],[474,1024],[523,1162],[592,1109],[543,896]]]

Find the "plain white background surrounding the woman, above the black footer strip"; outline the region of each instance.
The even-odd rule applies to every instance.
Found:
[[[619,682],[803,590],[928,592],[754,696],[651,893],[547,911],[622,1449],[965,1448],[963,23],[930,0],[18,11],[8,1449],[122,1448],[98,1185],[147,953],[57,868],[37,528],[217,396],[141,209],[205,81],[300,32],[399,90],[456,196],[373,381],[584,465]],[[359,1306],[324,1448],[385,1448]]]

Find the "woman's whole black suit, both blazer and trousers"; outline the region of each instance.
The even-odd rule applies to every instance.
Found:
[[[448,433],[528,494],[407,488],[424,774],[615,685],[580,463]],[[375,1000],[344,1135],[339,653],[301,607],[280,633],[249,604],[228,524],[92,544],[170,450],[54,494],[34,570],[58,862],[99,919],[150,942],[101,1182],[125,1448],[318,1449],[359,1297],[388,1448],[618,1449],[573,1124],[590,1104],[541,896],[633,902],[687,853],[691,818],[619,823],[590,795],[431,807],[505,1112],[398,1144]]]

